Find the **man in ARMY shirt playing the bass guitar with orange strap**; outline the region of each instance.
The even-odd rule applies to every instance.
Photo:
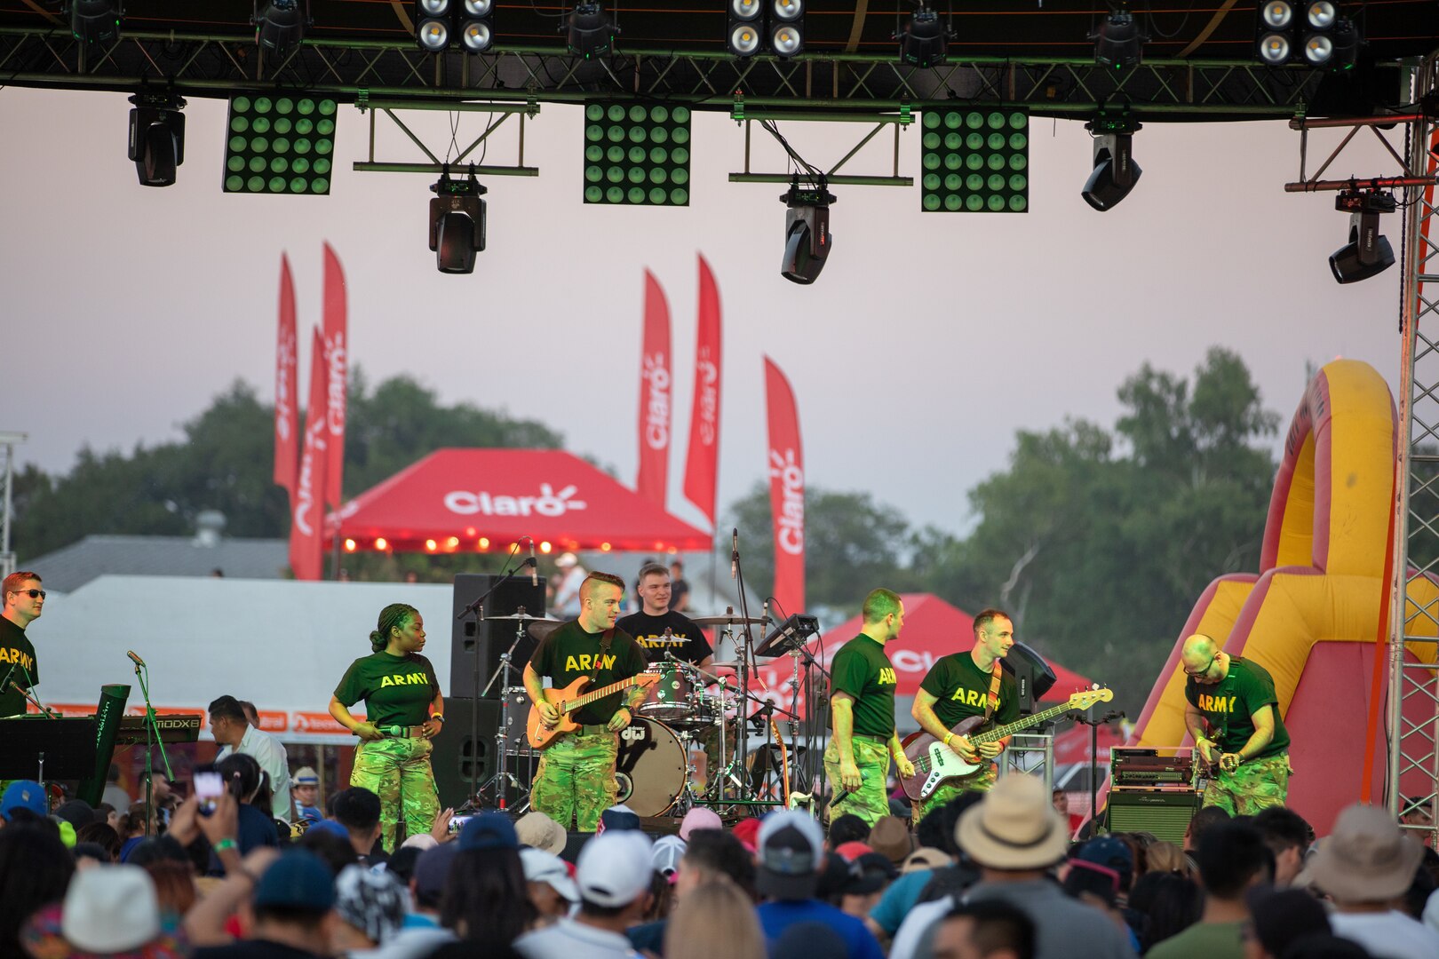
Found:
[[[986,791],[994,785],[994,759],[1009,745],[1009,738],[976,746],[968,736],[955,736],[950,730],[970,716],[986,713],[997,726],[1019,719],[1019,684],[1014,674],[1000,666],[1012,646],[1014,623],[999,610],[984,610],[974,617],[974,648],[941,656],[924,674],[909,715],[920,723],[920,729],[944,740],[964,762],[980,763],[980,769],[930,794],[920,807],[921,817],[961,792]],[[996,697],[993,702],[991,693]]]

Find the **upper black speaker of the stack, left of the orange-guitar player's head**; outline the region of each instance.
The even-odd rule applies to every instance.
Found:
[[[455,602],[450,618],[453,630],[450,640],[450,689],[448,696],[475,699],[489,683],[489,677],[499,669],[499,657],[515,643],[517,620],[494,620],[489,617],[514,615],[524,611],[530,615],[544,615],[544,577],[540,585],[531,585],[530,577],[519,575],[496,588],[485,601],[485,620],[475,621],[473,615],[459,617],[460,611],[479,597],[489,592],[504,577],[489,574],[462,572],[455,577]],[[515,646],[514,667],[511,676],[514,686],[521,686],[519,673],[540,644],[532,635],[525,633]],[[479,657],[479,686],[475,686],[475,657]],[[502,694],[502,680],[495,680],[489,687],[486,699],[499,699]],[[446,716],[446,719],[449,719]]]

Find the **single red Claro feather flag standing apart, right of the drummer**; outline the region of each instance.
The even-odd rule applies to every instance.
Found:
[[[804,611],[804,453],[794,391],[764,358],[770,420],[770,513],[774,519],[774,600],[786,615]]]

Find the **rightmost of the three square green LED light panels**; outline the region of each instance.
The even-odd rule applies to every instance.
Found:
[[[1029,208],[1029,114],[927,109],[921,129],[921,210],[1023,213]]]

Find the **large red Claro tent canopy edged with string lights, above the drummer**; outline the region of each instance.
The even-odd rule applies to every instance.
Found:
[[[436,450],[345,503],[327,522],[354,549],[709,549],[709,533],[640,499],[563,450]],[[377,543],[381,541],[383,545]]]

